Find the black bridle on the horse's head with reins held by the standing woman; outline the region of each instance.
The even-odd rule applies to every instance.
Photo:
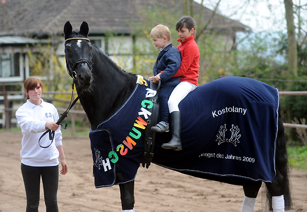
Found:
[[[84,40],[90,42],[90,39],[87,39],[87,38],[84,38],[84,37],[73,37],[73,38],[68,38],[68,39],[66,39],[65,42],[64,42],[64,44],[66,43],[66,41],[68,41],[68,40],[73,40],[73,39],[84,39]],[[67,110],[66,110],[64,113],[60,114],[61,117],[60,117],[60,118],[57,120],[57,122],[56,122],[58,125],[61,125],[61,126],[63,127],[63,129],[66,129],[66,128],[67,128],[67,125],[68,125],[68,122],[69,122],[69,117],[68,117],[68,115],[67,115],[68,112],[73,108],[74,104],[79,100],[79,96],[80,96],[80,94],[83,92],[83,90],[82,90],[81,93],[80,93],[80,94],[76,97],[76,99],[72,102],[73,96],[74,96],[74,87],[75,87],[75,83],[76,83],[76,81],[77,81],[77,73],[74,71],[74,69],[76,68],[76,66],[78,65],[78,63],[80,63],[80,62],[86,62],[87,65],[88,65],[89,68],[90,68],[90,71],[92,72],[92,70],[93,70],[93,65],[94,65],[94,63],[92,62],[92,57],[93,57],[93,56],[92,56],[92,52],[91,52],[91,61],[89,61],[89,60],[86,59],[86,58],[81,58],[81,59],[78,59],[77,61],[75,61],[74,64],[73,64],[73,66],[71,66],[70,63],[69,63],[69,61],[68,61],[68,59],[67,59],[66,52],[65,52],[65,60],[66,60],[67,72],[68,72],[68,74],[73,78],[73,82],[72,82],[72,89],[73,89],[73,91],[72,91],[71,101],[70,101],[70,103],[69,103],[69,106],[68,106]],[[64,118],[66,118],[66,117],[67,117],[67,121],[66,121],[65,125],[62,125],[61,122],[62,122],[62,121],[64,120]],[[40,139],[41,139],[43,136],[45,136],[47,133],[49,133],[49,140],[51,140],[51,142],[50,142],[50,144],[49,144],[48,146],[42,146],[42,145],[40,145]],[[42,148],[48,148],[48,147],[52,144],[52,142],[53,142],[53,140],[54,140],[54,134],[55,134],[55,131],[52,131],[52,130],[50,130],[50,129],[48,129],[47,131],[45,131],[45,133],[43,133],[43,134],[40,136],[40,138],[39,138],[39,140],[38,140],[38,145],[39,145],[40,147],[42,147]]]

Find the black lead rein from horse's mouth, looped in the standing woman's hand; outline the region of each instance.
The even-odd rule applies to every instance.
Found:
[[[62,113],[62,114],[60,114],[61,115],[61,117],[57,120],[57,122],[56,122],[56,124],[58,124],[58,125],[61,125],[62,127],[63,127],[63,129],[66,129],[67,128],[67,125],[68,125],[68,121],[69,121],[69,117],[68,117],[68,112],[72,109],[72,107],[75,105],[75,103],[79,100],[79,96],[81,95],[81,93],[83,92],[83,90],[82,90],[82,92],[77,96],[77,98],[72,102],[72,100],[73,100],[73,96],[74,96],[74,87],[75,87],[75,82],[74,82],[75,80],[73,79],[73,82],[72,82],[72,89],[73,89],[73,91],[72,91],[72,97],[71,97],[71,101],[70,101],[70,103],[69,103],[69,106],[68,106],[68,108],[67,108],[67,110],[64,112],[64,113]],[[66,118],[67,117],[67,120],[66,120],[66,123],[65,123],[65,125],[62,125],[61,124],[61,122],[64,120],[64,118]],[[51,140],[51,142],[50,142],[50,144],[48,145],[48,146],[42,146],[42,145],[40,145],[40,139],[43,137],[43,136],[45,136],[47,133],[49,133],[49,140]],[[40,146],[40,147],[42,147],[42,148],[48,148],[51,144],[52,144],[52,142],[53,142],[53,140],[54,140],[54,134],[55,134],[55,131],[52,131],[52,130],[50,130],[50,129],[48,129],[45,133],[43,133],[41,136],[40,136],[40,138],[39,138],[39,140],[38,140],[38,145]]]

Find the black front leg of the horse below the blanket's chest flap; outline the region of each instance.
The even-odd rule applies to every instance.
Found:
[[[134,212],[134,180],[119,184],[123,212]]]

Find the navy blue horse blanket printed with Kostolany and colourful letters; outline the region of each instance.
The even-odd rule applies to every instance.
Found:
[[[147,89],[147,90],[146,90]],[[135,179],[144,152],[152,90],[137,84],[124,105],[91,130],[95,186]],[[153,95],[153,94],[152,94]],[[164,150],[170,133],[157,134],[153,163],[184,174],[271,182],[275,177],[278,90],[244,77],[224,77],[183,99],[182,151]]]

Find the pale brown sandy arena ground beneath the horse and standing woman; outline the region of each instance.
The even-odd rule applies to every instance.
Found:
[[[20,173],[21,133],[0,132],[0,211],[26,211],[26,194]],[[98,188],[92,177],[90,139],[64,137],[68,174],[60,175],[59,211],[121,211],[118,186]],[[307,173],[291,170],[293,209],[307,211]],[[262,188],[261,188],[262,190]],[[268,211],[265,197],[258,195],[255,210]],[[41,187],[39,211],[46,211]],[[140,167],[135,182],[137,212],[238,212],[244,199],[240,186],[186,176],[155,164]]]

